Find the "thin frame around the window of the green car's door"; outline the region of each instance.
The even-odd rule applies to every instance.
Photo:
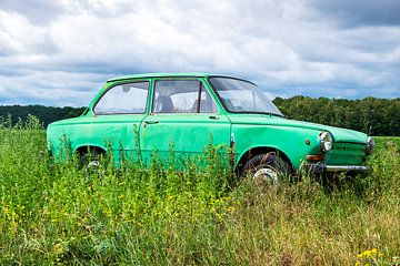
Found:
[[[160,113],[160,112],[154,112],[154,102],[156,102],[156,92],[157,92],[157,82],[159,81],[198,81],[199,82],[199,88],[197,90],[197,99],[198,100],[198,106],[197,106],[197,111],[196,112],[172,112],[172,113]],[[150,109],[150,114],[153,115],[159,115],[159,114],[187,114],[187,115],[194,115],[194,114],[203,114],[203,115],[209,115],[209,114],[219,114],[220,113],[220,109],[218,106],[218,103],[216,102],[216,99],[212,96],[211,92],[209,89],[207,89],[207,82],[204,80],[201,79],[197,79],[197,78],[161,78],[161,79],[154,79],[153,80],[153,84],[152,84],[152,100],[151,100],[151,109]],[[210,113],[202,113],[200,112],[201,109],[201,92],[204,91],[206,93],[209,94],[210,100],[212,101],[213,105],[216,106],[216,112],[210,112]]]

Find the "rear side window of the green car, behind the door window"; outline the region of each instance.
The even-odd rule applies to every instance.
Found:
[[[94,106],[96,114],[141,114],[146,112],[149,82],[111,88]]]

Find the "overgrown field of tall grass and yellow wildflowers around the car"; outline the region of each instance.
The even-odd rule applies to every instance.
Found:
[[[163,171],[154,157],[89,173],[52,163],[34,119],[0,127],[0,265],[400,264],[400,146],[387,140],[369,175],[334,187],[232,186],[214,147],[204,167],[171,156]]]

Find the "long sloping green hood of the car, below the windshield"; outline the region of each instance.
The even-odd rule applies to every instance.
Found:
[[[367,134],[342,127],[316,124],[310,122],[289,120],[279,116],[260,114],[238,114],[229,116],[232,124],[273,125],[284,127],[300,127],[316,131],[328,131],[332,134],[334,142],[349,142],[367,144]]]

